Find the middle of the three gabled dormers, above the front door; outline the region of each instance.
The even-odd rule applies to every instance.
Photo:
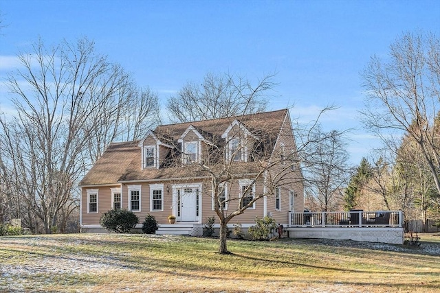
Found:
[[[202,154],[202,142],[208,143],[197,128],[190,125],[177,140],[181,144],[181,163],[200,163]]]

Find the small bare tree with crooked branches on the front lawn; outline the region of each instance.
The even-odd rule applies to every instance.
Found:
[[[249,97],[247,95],[241,99],[249,101]],[[181,113],[181,115],[185,115],[185,113]],[[247,209],[254,207],[257,201],[273,200],[280,189],[294,190],[301,197],[303,196],[304,178],[301,152],[310,143],[310,137],[303,137],[300,139],[300,145],[296,145],[294,128],[290,120],[287,119],[289,117],[288,111],[283,115],[278,114],[278,116],[275,122],[273,117],[262,119],[260,115],[232,116],[228,118],[228,125],[234,124],[234,121],[239,121],[239,123],[235,124],[228,135],[220,141],[218,141],[218,135],[213,133],[218,132],[218,129],[224,132],[228,128],[228,125],[219,125],[219,122],[224,119],[204,121],[205,126],[210,124],[211,130],[206,133],[200,130],[200,134],[203,134],[204,137],[206,152],[199,159],[195,154],[185,150],[181,154],[186,158],[184,159],[186,172],[184,175],[180,175],[180,178],[183,177],[189,181],[195,180],[197,177],[206,178],[203,185],[211,187],[212,192],[208,194],[210,194],[213,210],[220,222],[219,253],[229,253],[227,246],[228,223],[234,217],[242,215]],[[280,119],[286,123],[281,123]],[[280,130],[281,124],[283,127]],[[192,126],[189,123],[185,125]],[[195,130],[198,129],[197,125],[193,126]],[[312,124],[311,128],[304,133],[310,134],[317,125],[317,123]],[[170,131],[170,128],[173,126],[166,126],[163,131],[165,129]],[[164,141],[167,137],[175,137],[175,134],[162,133],[161,127],[157,128],[156,132]],[[182,130],[175,132],[180,136]],[[322,139],[327,139],[327,137],[319,137],[317,142]],[[281,141],[285,142],[284,146],[280,143]],[[166,143],[172,144],[173,139],[166,141]],[[234,147],[228,148],[228,145],[234,145]],[[175,145],[175,148],[182,149],[178,145]],[[245,156],[245,154],[248,155]],[[239,181],[243,179],[245,183],[241,185]],[[228,196],[225,196],[225,185],[230,189],[235,186],[233,190],[239,190],[239,192],[229,193]]]

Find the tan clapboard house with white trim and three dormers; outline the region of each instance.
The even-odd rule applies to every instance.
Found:
[[[289,110],[157,126],[142,140],[111,143],[81,180],[80,226],[104,232],[100,216],[109,209],[147,214],[166,226],[201,226],[215,216],[213,180],[219,204],[232,213],[263,196],[231,223],[243,228],[271,215],[287,224],[289,212],[304,210]]]

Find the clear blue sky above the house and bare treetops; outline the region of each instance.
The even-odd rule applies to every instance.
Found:
[[[373,54],[386,56],[403,32],[439,34],[440,1],[0,1],[0,78],[14,56],[41,37],[47,44],[87,36],[140,86],[162,101],[208,72],[250,80],[276,72],[270,109],[295,107],[292,118],[316,118],[326,130],[355,128],[351,163],[377,140],[362,129],[360,72]],[[0,85],[0,111],[8,93]]]

